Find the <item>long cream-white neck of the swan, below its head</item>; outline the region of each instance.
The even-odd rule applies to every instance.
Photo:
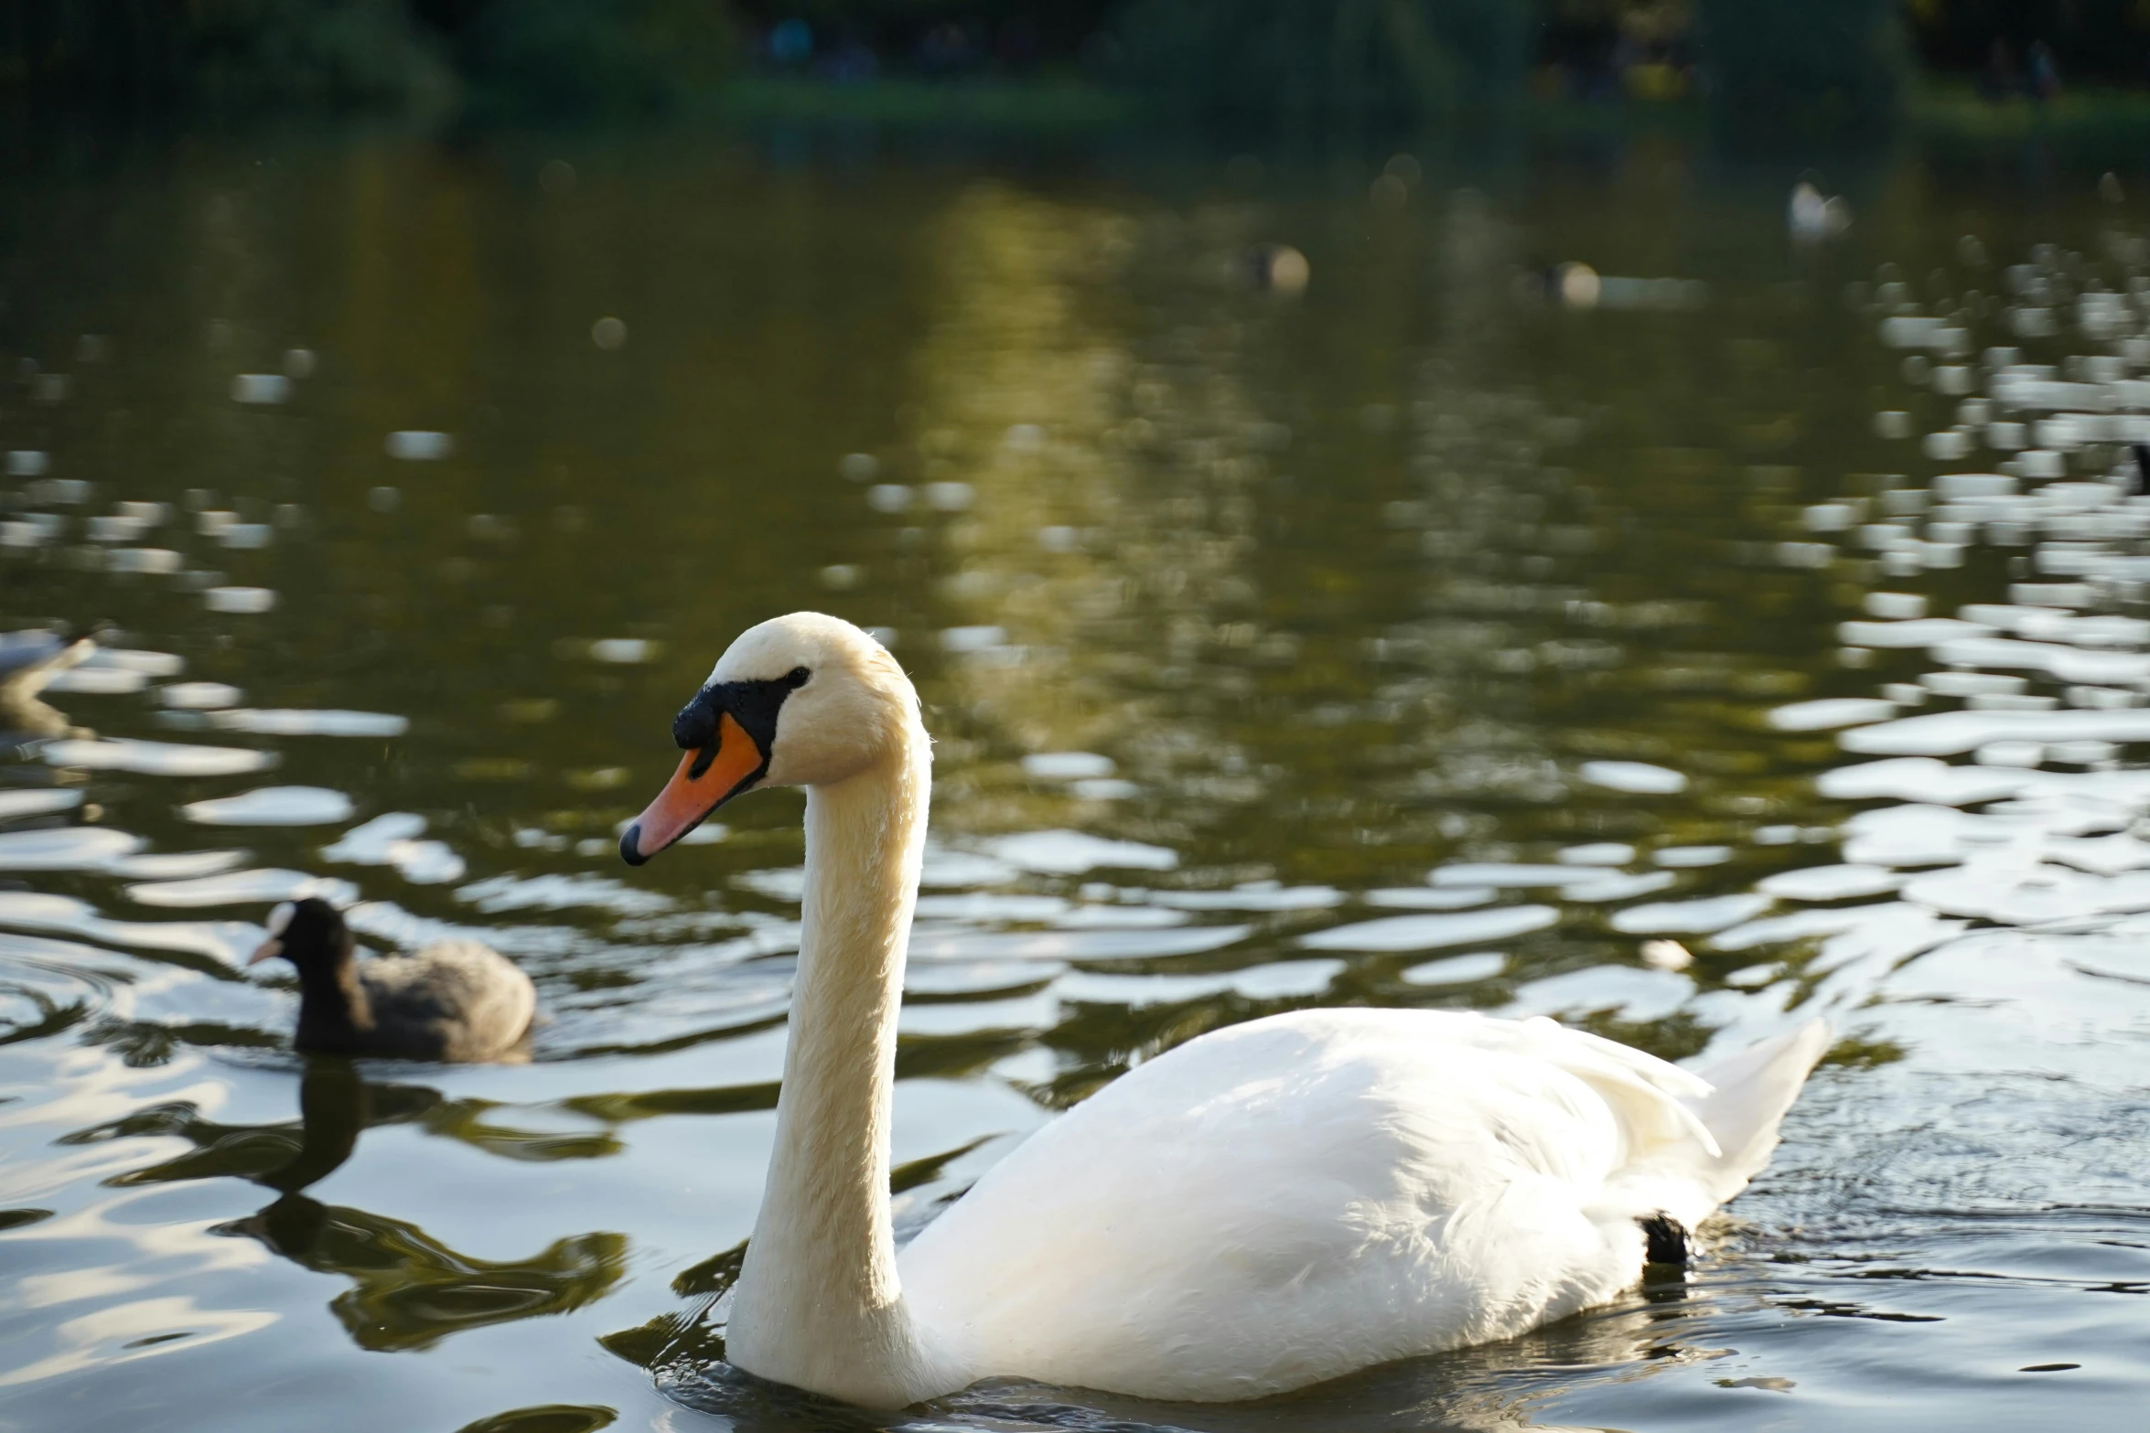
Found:
[[[929,748],[806,791],[806,898],[785,1083],[727,1354],[759,1377],[894,1407],[927,1392],[897,1285],[888,1121]]]

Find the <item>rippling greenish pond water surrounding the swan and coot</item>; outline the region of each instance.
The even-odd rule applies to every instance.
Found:
[[[615,855],[793,608],[884,629],[937,737],[907,1227],[1275,1010],[1840,1040],[1683,1285],[1262,1405],[914,1427],[2139,1416],[2150,176],[1903,153],[1800,245],[1795,170],[1677,142],[1382,159],[0,180],[0,632],[108,623],[0,756],[0,1422],[849,1427],[727,1379],[712,1308],[800,801]],[[299,889],[518,960],[529,1063],[295,1057],[239,962]]]

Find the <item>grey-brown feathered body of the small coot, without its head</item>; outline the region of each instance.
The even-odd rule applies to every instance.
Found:
[[[499,1059],[529,1033],[538,990],[477,941],[441,941],[359,967],[372,1005],[368,1053],[406,1059]]]

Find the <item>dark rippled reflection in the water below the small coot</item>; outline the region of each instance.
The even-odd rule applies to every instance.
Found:
[[[602,1298],[626,1272],[628,1242],[617,1233],[570,1235],[529,1259],[490,1263],[417,1225],[303,1192],[350,1160],[370,1126],[417,1119],[439,1104],[432,1089],[368,1083],[348,1059],[310,1059],[297,1152],[247,1175],[282,1195],[221,1229],[348,1278],[353,1287],[329,1300],[329,1311],[363,1349],[424,1349],[469,1328],[565,1313]]]

